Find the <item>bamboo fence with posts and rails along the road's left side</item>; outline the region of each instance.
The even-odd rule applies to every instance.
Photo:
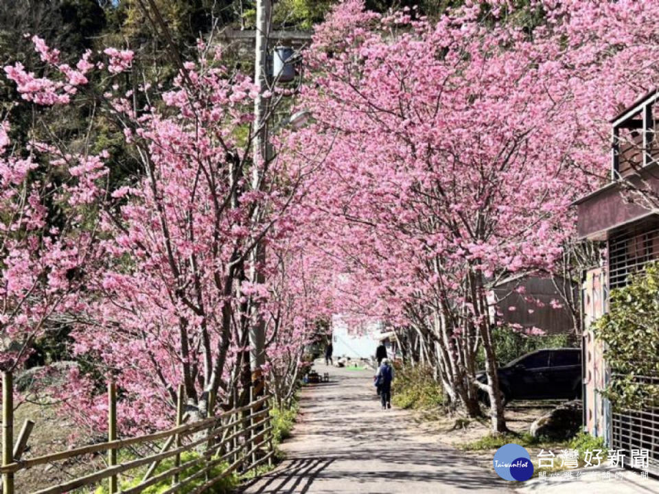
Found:
[[[270,418],[270,396],[253,397],[250,393],[250,403],[221,412],[207,419],[184,423],[187,414],[184,413],[183,386],[178,388],[178,403],[176,410],[176,426],[170,430],[144,434],[142,436],[117,438],[117,390],[113,382],[108,384],[108,440],[88,446],[59,451],[56,453],[22,459],[34,423],[26,421],[21,429],[16,445],[13,444],[13,386],[12,374],[3,373],[2,390],[2,494],[16,494],[14,475],[29,475],[30,468],[37,465],[51,464],[61,460],[82,458],[89,454],[106,453],[108,457],[106,468],[73,478],[50,486],[32,494],[63,494],[74,489],[94,489],[102,482],[107,482],[111,494],[138,494],[159,482],[171,479],[172,486],[163,494],[179,492],[192,482],[201,482],[191,493],[199,494],[226,478],[232,472],[244,473],[268,462],[273,463],[275,453],[273,447],[273,425]],[[214,397],[211,397],[211,406]],[[234,401],[235,403],[235,401]],[[118,462],[117,452],[126,447],[162,442],[159,451]],[[186,451],[198,453],[198,457],[181,463],[181,454]],[[172,459],[172,467],[154,475],[158,465],[163,460]],[[211,475],[213,469],[220,464],[228,463],[219,475]],[[140,467],[146,467],[139,484],[124,490],[120,487],[119,475],[126,475]],[[192,470],[194,473],[187,473]],[[133,475],[135,473],[133,472]]]

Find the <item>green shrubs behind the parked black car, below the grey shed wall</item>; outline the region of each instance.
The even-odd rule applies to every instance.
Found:
[[[509,327],[498,327],[492,331],[492,343],[496,358],[500,364],[504,365],[524,353],[546,348],[564,348],[573,346],[573,342],[566,334],[528,336],[519,331],[513,331]],[[476,357],[478,368],[485,366],[485,353],[483,349],[478,352]]]

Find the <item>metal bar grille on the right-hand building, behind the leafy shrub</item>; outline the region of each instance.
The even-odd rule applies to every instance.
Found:
[[[659,222],[644,222],[640,226],[613,235],[608,243],[609,287],[623,287],[629,275],[643,270],[649,261],[659,259]],[[635,376],[640,382],[659,386],[659,376]],[[611,447],[625,451],[629,461],[632,451],[649,451],[649,470],[659,474],[659,408],[618,410],[611,414]],[[632,464],[627,464],[632,466]]]

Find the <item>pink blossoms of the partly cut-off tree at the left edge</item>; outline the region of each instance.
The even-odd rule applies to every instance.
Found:
[[[8,131],[5,122],[0,126],[0,368],[5,370],[20,368],[30,356],[31,343],[43,336],[51,318],[80,309],[78,273],[93,246],[89,233],[76,231],[71,235],[73,225],[58,228],[47,218],[47,204],[58,193],[71,200],[79,193],[89,196],[91,182],[79,176],[68,180],[60,191],[47,187],[36,178],[40,167],[36,156],[8,151]],[[34,149],[39,147],[34,145]],[[40,158],[58,161],[49,154]],[[93,161],[104,168],[98,158],[70,158]]]

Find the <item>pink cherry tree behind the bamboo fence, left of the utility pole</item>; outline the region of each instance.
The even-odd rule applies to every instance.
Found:
[[[23,99],[69,104],[81,88],[84,97],[93,94],[91,73],[106,77],[107,91],[93,97],[104,102],[141,165],[100,204],[100,239],[86,266],[84,293],[76,294],[73,351],[117,381],[124,430],[170,421],[180,383],[189,408],[205,416],[211,395],[231,401],[241,379],[243,393],[250,384],[246,336],[270,294],[268,285],[251,278],[250,254],[259,243],[290,235],[286,210],[304,167],[284,167],[276,156],[253,159],[255,86],[224,66],[219,49],[200,43],[198,58],[181,62],[167,91],[141,84],[123,93],[115,80],[131,70],[130,51],[86,53],[71,69],[43,40],[34,42],[48,75],[37,78],[21,64],[5,68]],[[268,94],[268,112],[282,97]],[[255,167],[257,184],[251,180]],[[95,170],[98,176],[91,176]],[[107,168],[89,159],[68,172],[82,175],[86,183],[80,178],[77,192],[91,200]],[[290,336],[286,331],[297,333],[281,351],[297,355],[307,342],[298,334],[305,325],[282,327],[281,336],[273,336],[273,358],[279,338]],[[64,390],[67,405],[102,430],[102,414],[88,412],[102,409],[104,397],[78,369],[70,382],[76,390]]]

